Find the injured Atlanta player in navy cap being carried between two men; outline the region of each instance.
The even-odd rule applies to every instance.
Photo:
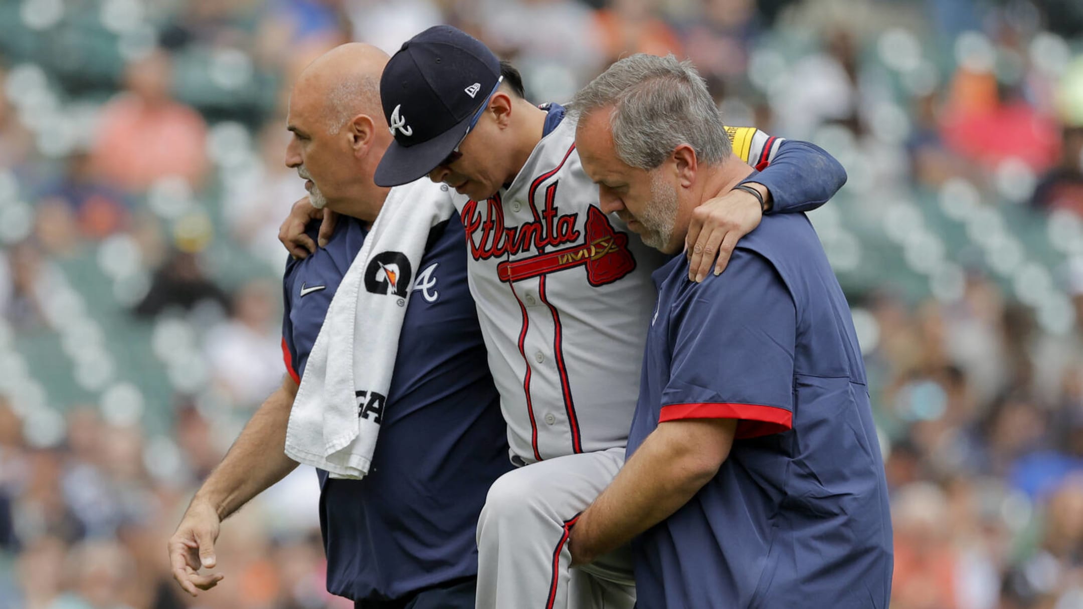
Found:
[[[514,68],[473,38],[446,26],[416,36],[389,63],[381,100],[395,142],[377,183],[428,173],[460,194],[470,289],[521,466],[491,489],[479,522],[478,607],[630,607],[627,554],[570,571],[565,541],[624,461],[655,298],[650,273],[666,257],[600,210],[564,108],[526,102]],[[810,144],[755,129],[730,137],[765,171],[746,184],[755,194],[725,193],[696,212],[689,256],[700,280],[719,250],[720,272],[761,211],[812,209],[846,179]],[[284,223],[284,243],[300,255],[295,243],[315,249],[296,229],[308,218],[295,208]]]

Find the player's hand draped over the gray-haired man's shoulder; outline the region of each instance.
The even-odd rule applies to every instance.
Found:
[[[770,192],[766,186],[746,182],[768,200]],[[688,256],[688,278],[702,282],[715,265],[715,274],[720,275],[730,262],[730,256],[738,239],[759,225],[764,210],[751,193],[730,191],[717,196],[692,210],[692,223],[684,237],[684,254]],[[715,257],[718,260],[715,260]]]

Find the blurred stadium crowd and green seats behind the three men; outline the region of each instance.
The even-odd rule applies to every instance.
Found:
[[[284,372],[292,78],[439,23],[536,102],[628,53],[689,57],[730,125],[843,160],[811,218],[865,351],[892,608],[1083,607],[1079,0],[21,0],[0,3],[0,609],[349,606],[311,469],[226,522],[213,592],[183,596],[165,544]]]

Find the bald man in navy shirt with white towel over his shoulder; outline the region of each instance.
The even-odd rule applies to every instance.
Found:
[[[284,443],[309,352],[390,191],[373,183],[391,142],[379,99],[387,61],[374,47],[343,44],[314,61],[293,87],[286,165],[306,180],[313,205],[343,221],[326,247],[287,262],[283,385],[204,482],[169,541],[173,576],[192,595],[222,580],[199,573],[217,565],[221,521],[297,466]],[[438,184],[427,187],[446,196]],[[317,470],[327,589],[355,607],[474,606],[478,515],[488,487],[511,466],[468,290],[462,230],[457,213],[434,226],[413,282],[403,280],[415,294],[377,414],[380,435],[369,474],[345,480]]]

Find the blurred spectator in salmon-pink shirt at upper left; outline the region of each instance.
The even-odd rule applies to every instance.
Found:
[[[130,192],[180,177],[193,187],[208,169],[207,125],[172,99],[171,59],[162,50],[128,65],[125,94],[102,111],[92,160],[101,179]]]

